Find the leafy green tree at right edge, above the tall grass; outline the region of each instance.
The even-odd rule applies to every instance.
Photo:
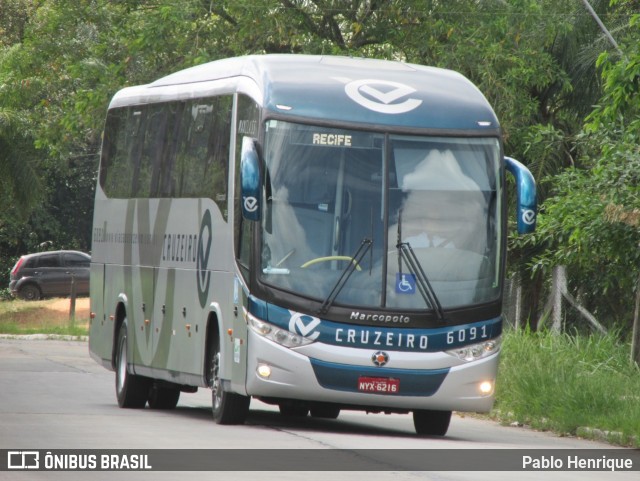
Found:
[[[633,15],[628,25],[639,21]],[[544,246],[534,269],[566,265],[590,310],[627,328],[640,265],[640,35],[637,28],[618,32],[624,56],[599,57],[604,92],[580,135],[579,165],[552,179],[530,242]]]

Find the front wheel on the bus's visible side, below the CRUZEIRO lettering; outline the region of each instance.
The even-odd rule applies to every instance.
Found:
[[[211,411],[213,420],[218,424],[244,424],[249,414],[251,397],[227,392],[220,379],[220,339],[216,335],[210,350],[211,362],[209,385],[211,386]]]

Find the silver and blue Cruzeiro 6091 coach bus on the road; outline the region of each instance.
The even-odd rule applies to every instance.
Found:
[[[124,88],[95,196],[91,356],[122,408],[206,388],[219,424],[254,398],[411,413],[444,436],[452,411],[494,401],[505,172],[531,232],[532,175],[481,92],[439,68],[252,55]]]

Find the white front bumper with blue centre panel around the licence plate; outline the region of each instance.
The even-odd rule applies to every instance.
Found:
[[[480,384],[495,382],[499,353],[462,363],[445,353],[387,351],[390,362],[376,367],[371,349],[314,343],[288,349],[251,330],[248,339],[247,394],[256,397],[331,402],[349,406],[399,410],[434,409],[487,412],[493,391],[483,394]],[[268,378],[258,367],[269,366]],[[358,390],[361,377],[399,381],[394,394]]]

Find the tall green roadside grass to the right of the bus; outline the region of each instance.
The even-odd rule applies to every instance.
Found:
[[[640,447],[640,369],[616,333],[510,331],[493,415],[560,434],[600,433],[615,444]]]

